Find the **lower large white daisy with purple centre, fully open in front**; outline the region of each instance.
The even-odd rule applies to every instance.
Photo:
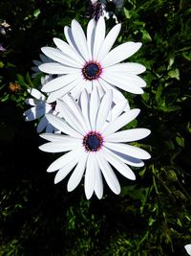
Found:
[[[69,97],[67,104],[57,101],[57,107],[64,119],[48,114],[50,123],[64,134],[41,134],[49,142],[40,146],[41,151],[65,152],[56,159],[47,172],[58,171],[54,183],[61,181],[74,169],[67,189],[69,192],[79,184],[85,174],[85,195],[91,198],[103,196],[103,179],[110,189],[120,193],[120,185],[112,166],[125,177],[135,180],[136,176],[128,165],[141,167],[141,159],[149,159],[150,154],[138,147],[125,144],[138,141],[150,134],[147,128],[132,128],[117,131],[134,120],[139,109],[124,112],[125,105],[112,107],[112,90],[100,99],[98,90],[89,95],[86,90],[81,93],[79,103]],[[111,114],[112,121],[107,121]]]

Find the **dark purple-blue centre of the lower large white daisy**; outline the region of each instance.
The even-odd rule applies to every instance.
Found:
[[[90,131],[83,138],[83,146],[86,151],[99,151],[103,145],[103,138],[100,133]]]

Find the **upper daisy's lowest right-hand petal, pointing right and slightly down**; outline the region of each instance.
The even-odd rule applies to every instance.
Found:
[[[142,94],[144,91],[140,88],[140,85],[143,83],[145,85],[145,81],[138,83],[138,81],[132,80],[131,78],[125,78],[116,74],[102,74],[101,75],[101,79],[103,79],[104,81],[108,82],[109,84],[115,85],[118,88],[127,91],[127,92],[131,92],[131,93],[135,93],[135,94]]]

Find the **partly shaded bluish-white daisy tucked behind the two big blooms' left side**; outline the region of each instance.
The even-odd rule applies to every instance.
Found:
[[[46,128],[46,132],[59,132],[56,128],[49,123],[46,118],[46,114],[52,113],[53,115],[58,115],[56,109],[56,103],[48,104],[47,96],[42,94],[39,90],[35,88],[28,89],[28,92],[34,98],[29,98],[25,101],[26,104],[32,105],[31,108],[24,112],[26,121],[33,121],[39,119],[39,123],[37,125],[37,132],[41,132]]]

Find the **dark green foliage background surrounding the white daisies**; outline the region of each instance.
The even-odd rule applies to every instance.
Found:
[[[187,0],[126,0],[117,13],[117,44],[141,41],[131,61],[147,67],[141,96],[126,94],[141,112],[129,127],[150,128],[140,147],[152,158],[135,169],[137,181],[118,175],[119,196],[87,200],[81,183],[47,174],[54,155],[39,151],[35,123],[26,123],[32,59],[64,39],[73,18],[85,28],[87,2],[8,0],[0,3],[0,256],[171,256],[191,244],[191,8]],[[107,20],[108,30],[114,26]]]

